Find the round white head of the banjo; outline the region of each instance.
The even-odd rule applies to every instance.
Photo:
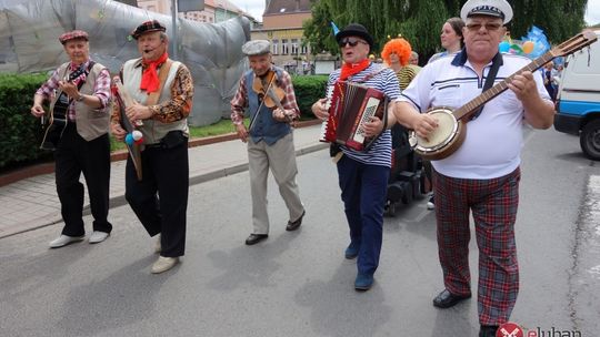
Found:
[[[417,135],[416,150],[422,153],[436,152],[448,145],[459,131],[459,122],[449,108],[436,108],[428,112],[438,120],[438,127],[423,139]]]

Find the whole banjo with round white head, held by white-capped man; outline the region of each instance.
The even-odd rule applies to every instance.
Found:
[[[418,136],[414,131],[411,132],[411,144],[414,145],[414,151],[426,160],[439,161],[454,153],[467,134],[467,123],[471,115],[478,112],[479,108],[486,104],[491,99],[498,96],[508,89],[508,83],[512,79],[524,72],[536,71],[543,64],[550,62],[558,57],[569,55],[584,47],[596,42],[598,38],[593,31],[584,31],[561,44],[552,48],[550,51],[536,59],[533,62],[518,70],[503,81],[497,83],[489,90],[486,90],[477,98],[469,101],[457,110],[448,106],[437,106],[429,109],[426,113],[438,120],[438,127],[433,130],[427,139]]]

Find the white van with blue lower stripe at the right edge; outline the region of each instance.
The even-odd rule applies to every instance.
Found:
[[[600,30],[594,32],[600,37]],[[600,42],[567,58],[557,94],[554,129],[579,135],[586,156],[600,161]]]

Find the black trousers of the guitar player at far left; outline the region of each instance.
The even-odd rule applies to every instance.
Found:
[[[110,233],[112,225],[107,219],[110,181],[108,133],[88,142],[77,133],[76,124],[69,123],[54,152],[54,163],[57,193],[64,221],[62,234],[86,234],[82,218],[83,184],[79,182],[81,173],[88,186],[93,231]]]

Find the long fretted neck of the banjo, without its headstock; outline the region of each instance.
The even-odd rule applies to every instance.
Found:
[[[516,73],[513,73],[510,76],[506,78],[504,80],[497,83],[492,88],[486,90],[480,95],[478,95],[477,98],[469,101],[467,104],[464,104],[461,108],[457,109],[454,111],[454,113],[453,113],[454,118],[457,120],[469,119],[474,112],[477,112],[479,110],[479,108],[481,108],[481,105],[486,104],[491,99],[493,99],[497,95],[504,92],[508,89],[508,83],[510,83],[516,75],[519,75],[524,71],[534,72],[536,70],[542,68],[543,64],[550,62],[553,58],[554,57],[552,55],[551,52],[544,53],[540,58],[536,59],[533,62],[531,62],[528,65],[521,68]]]

